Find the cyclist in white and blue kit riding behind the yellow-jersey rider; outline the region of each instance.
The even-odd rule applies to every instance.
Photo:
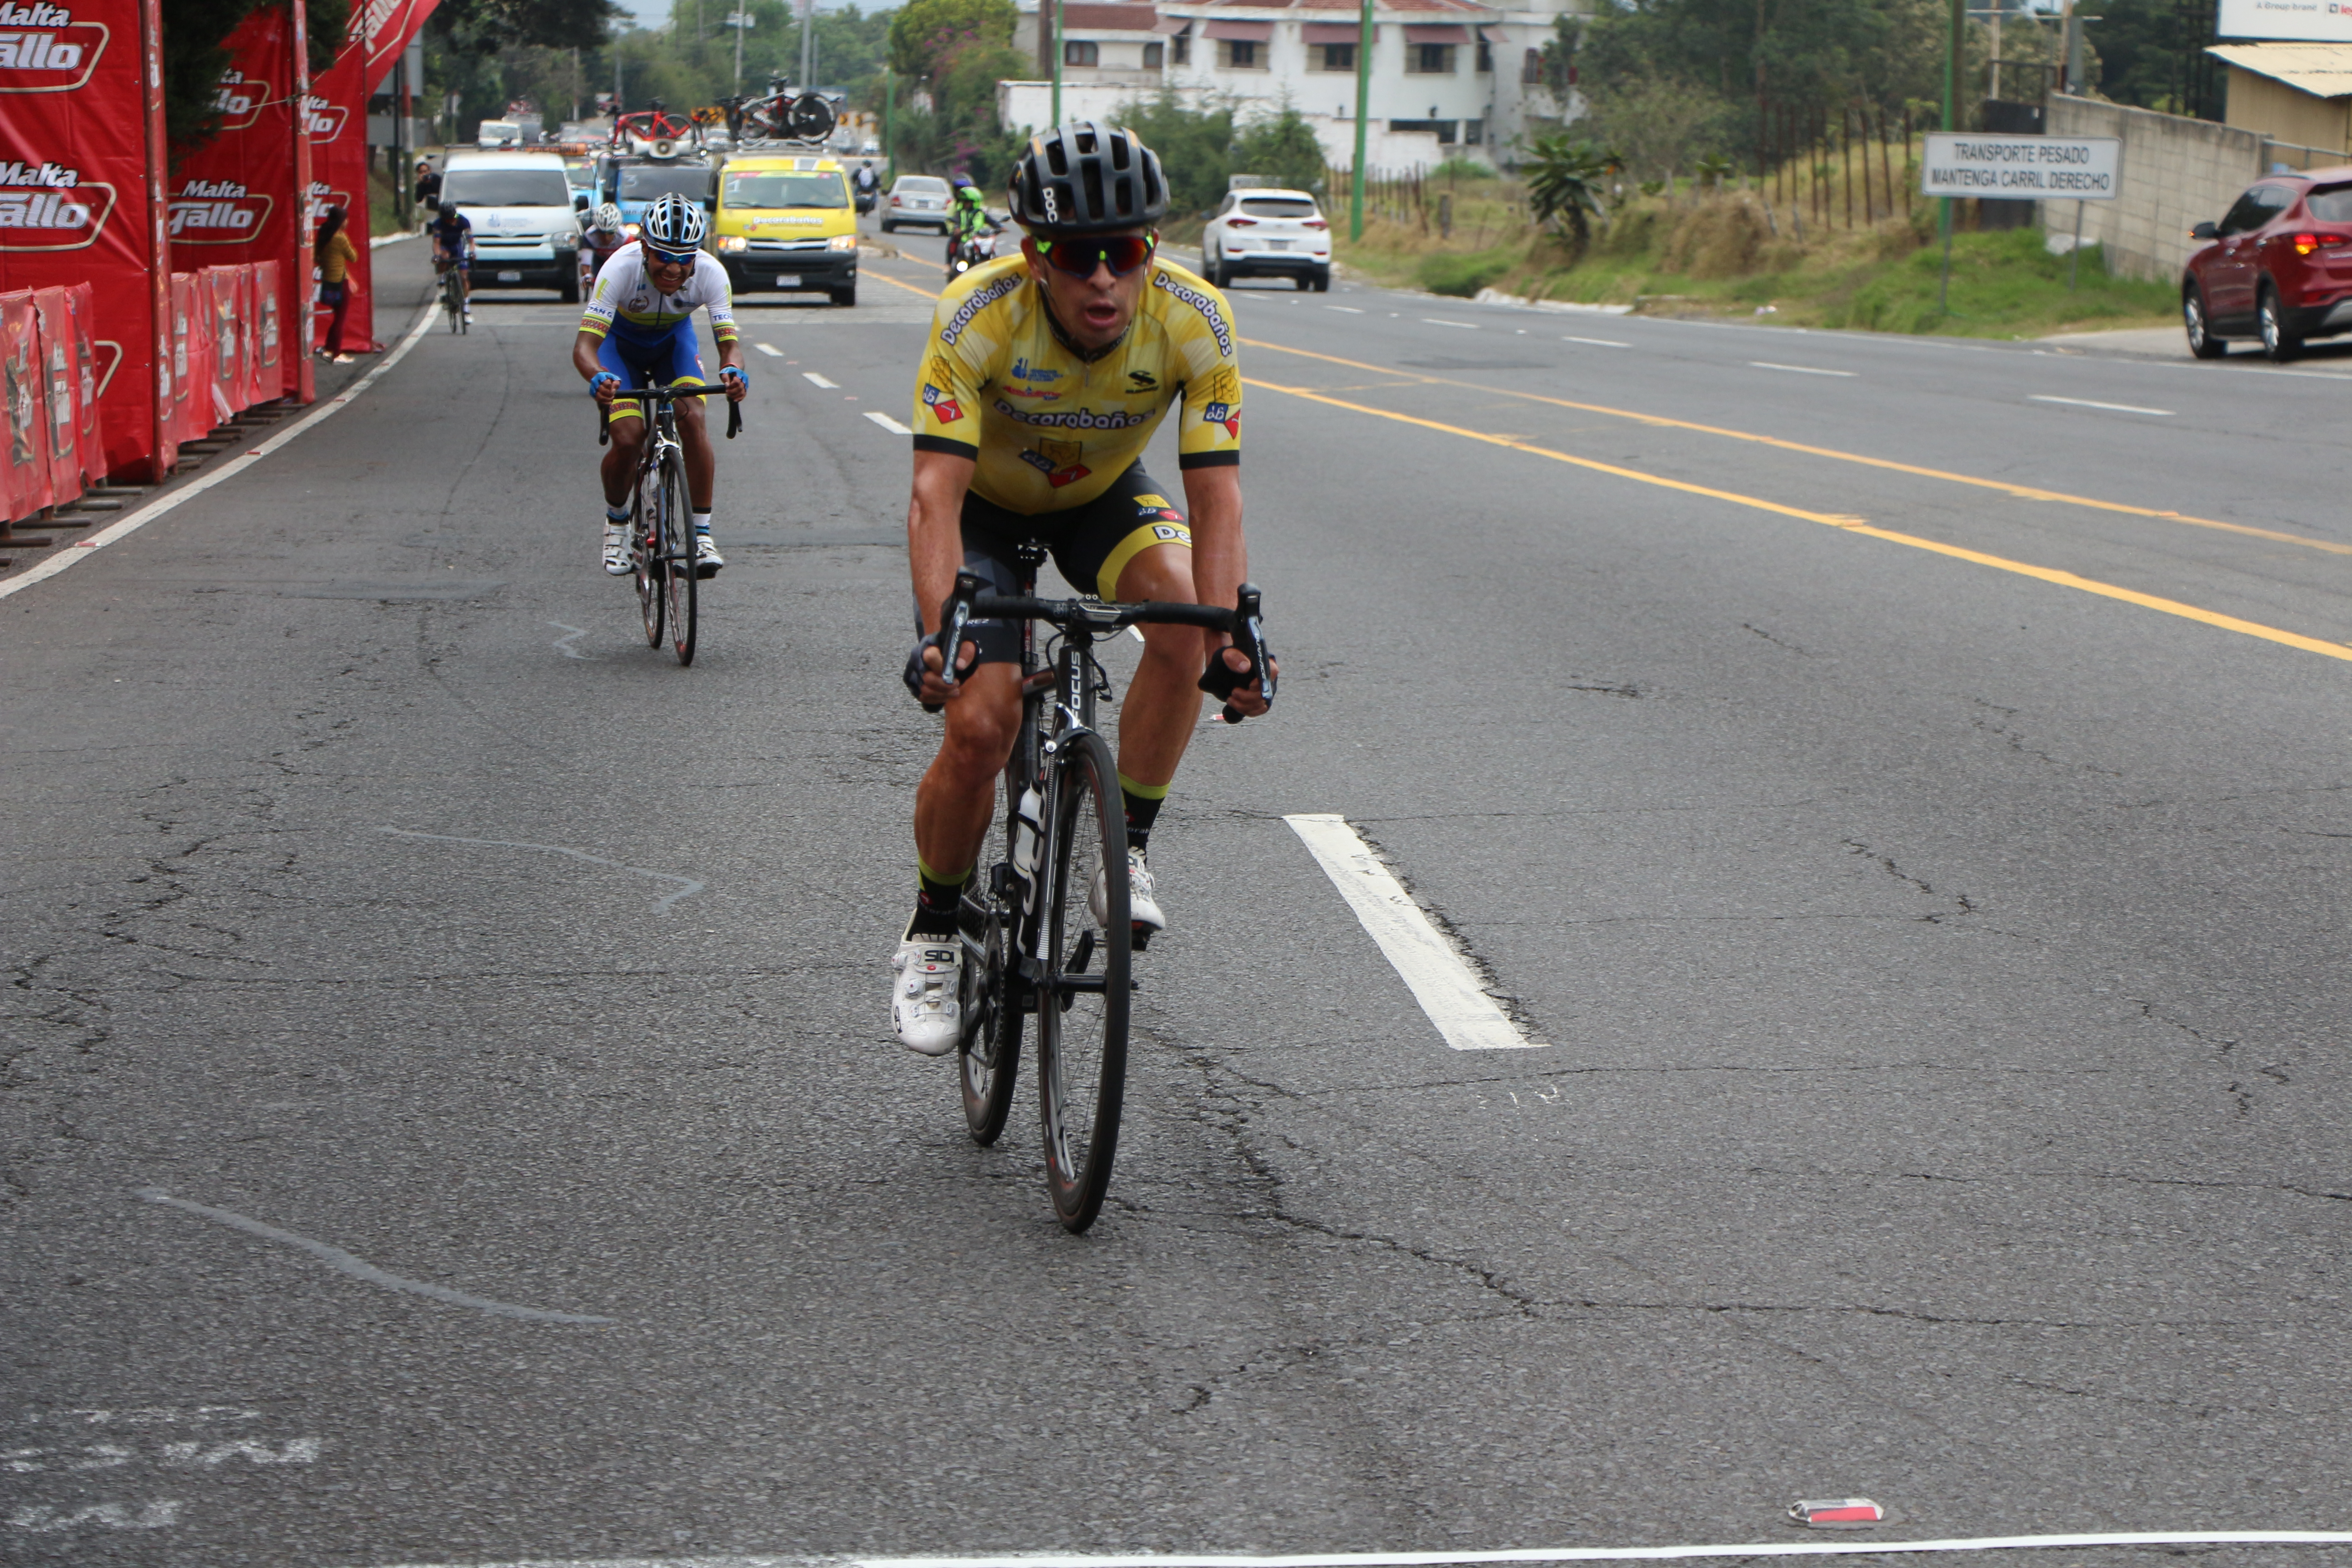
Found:
[[[628,487],[637,477],[644,447],[644,414],[637,400],[616,397],[623,386],[708,386],[703,350],[694,341],[694,313],[710,313],[710,336],[720,346],[720,381],[727,397],[743,402],[750,374],[736,343],[727,268],[701,249],[710,221],[696,202],[663,195],[644,209],[637,242],[614,252],[597,273],[595,294],[572,341],[572,367],[612,409],[612,449],[604,454],[604,571],[628,576]],[[687,449],[687,496],[694,505],[694,576],[724,567],[710,541],[710,487],[717,456],[703,428],[703,400],[677,400],[677,440]]]

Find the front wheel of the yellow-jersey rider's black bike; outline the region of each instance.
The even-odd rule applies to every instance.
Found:
[[[1054,1218],[1070,1232],[1094,1225],[1103,1208],[1127,1093],[1131,931],[1127,818],[1117,804],[1117,769],[1103,738],[1065,743],[1051,802],[1037,1110],[1044,1119],[1044,1185],[1054,1197]]]

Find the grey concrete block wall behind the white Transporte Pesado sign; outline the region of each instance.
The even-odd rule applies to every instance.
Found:
[[[2211,120],[2051,94],[2051,136],[2119,136],[2124,188],[2112,202],[2084,202],[2082,237],[2098,240],[2124,277],[2171,282],[2197,242],[2192,223],[2220,219],[2263,172],[2263,139]],[[2042,202],[2042,228],[2074,233],[2074,202]]]

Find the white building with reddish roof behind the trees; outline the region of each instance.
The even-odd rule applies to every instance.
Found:
[[[1355,162],[1355,52],[1362,9],[1352,0],[1138,0],[1065,2],[1063,120],[1112,118],[1122,103],[1176,92],[1195,106],[1230,101],[1242,118],[1296,108],[1324,158]],[[1021,0],[1014,45],[1051,68],[1054,0]],[[1446,158],[1508,162],[1510,143],[1573,120],[1541,71],[1562,12],[1590,0],[1376,0],[1367,165],[1411,169]],[[1042,127],[1049,82],[1004,82],[1004,125]]]

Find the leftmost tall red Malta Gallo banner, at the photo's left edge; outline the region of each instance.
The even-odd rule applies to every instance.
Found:
[[[0,289],[89,282],[94,463],[162,477],[169,247],[160,0],[0,0]]]

